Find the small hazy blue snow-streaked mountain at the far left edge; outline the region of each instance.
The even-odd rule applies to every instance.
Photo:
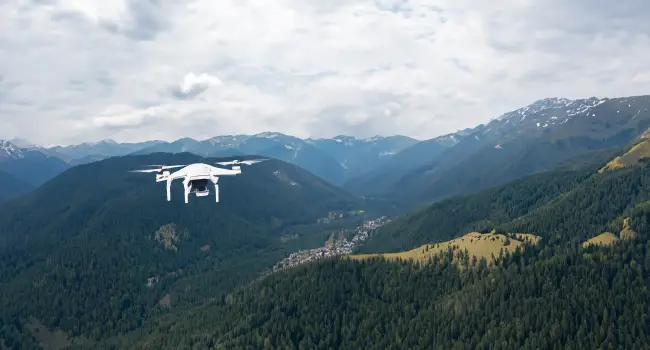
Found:
[[[39,186],[69,167],[62,159],[41,152],[39,148],[20,148],[0,140],[0,171],[32,186]]]

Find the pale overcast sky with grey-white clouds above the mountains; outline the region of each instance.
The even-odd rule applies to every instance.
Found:
[[[648,94],[649,17],[647,0],[0,1],[0,138],[428,139],[546,97]]]

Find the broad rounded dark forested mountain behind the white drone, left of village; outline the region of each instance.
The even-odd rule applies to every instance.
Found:
[[[214,297],[285,252],[321,244],[329,232],[312,236],[327,229],[319,218],[363,205],[274,159],[222,177],[220,203],[192,196],[185,204],[180,182],[167,202],[153,175],[129,172],[218,160],[228,159],[111,157],[67,169],[0,205],[0,344],[27,341],[34,320],[92,340],[124,333],[160,313],[158,305]],[[287,240],[285,230],[295,225],[314,230]]]

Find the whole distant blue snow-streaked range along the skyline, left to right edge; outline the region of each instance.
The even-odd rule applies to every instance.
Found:
[[[0,147],[0,170],[39,185],[68,167],[122,155],[190,152],[202,157],[258,155],[295,164],[360,196],[414,208],[449,196],[555,169],[623,147],[650,126],[650,96],[547,98],[487,124],[418,141],[405,136],[300,139],[275,132],[42,148],[18,140]],[[8,164],[7,160],[13,164]],[[43,162],[47,164],[41,165]],[[39,167],[38,174],[32,169]]]

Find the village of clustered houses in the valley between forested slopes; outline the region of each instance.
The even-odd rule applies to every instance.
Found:
[[[355,228],[354,236],[350,240],[346,239],[345,231],[340,231],[338,237],[335,233],[332,233],[323,247],[309,250],[300,250],[298,252],[291,253],[291,255],[275,264],[275,266],[273,266],[272,272],[288,269],[319,259],[352,254],[355,248],[360,246],[366,239],[368,239],[370,232],[386,224],[388,221],[389,220],[385,216],[373,220],[366,220]]]

